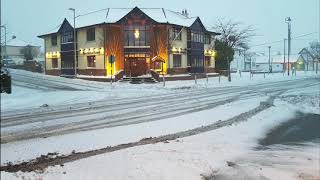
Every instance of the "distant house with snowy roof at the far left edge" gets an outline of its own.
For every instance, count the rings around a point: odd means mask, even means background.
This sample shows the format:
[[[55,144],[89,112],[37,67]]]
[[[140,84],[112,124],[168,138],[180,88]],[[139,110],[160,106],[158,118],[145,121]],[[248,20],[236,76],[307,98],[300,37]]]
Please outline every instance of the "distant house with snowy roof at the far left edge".
[[[6,46],[1,46],[1,56],[3,59],[10,60],[14,64],[21,65],[25,61],[24,50],[27,46],[30,46],[32,51],[36,54],[40,54],[40,46],[32,45],[19,39],[12,39],[6,43]],[[34,60],[39,60],[39,56]]]

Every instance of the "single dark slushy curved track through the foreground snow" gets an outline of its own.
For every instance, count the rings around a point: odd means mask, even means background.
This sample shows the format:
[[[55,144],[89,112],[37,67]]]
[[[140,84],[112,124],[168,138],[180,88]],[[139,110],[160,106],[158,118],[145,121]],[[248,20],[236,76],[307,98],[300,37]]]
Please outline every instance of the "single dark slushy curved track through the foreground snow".
[[[99,154],[104,154],[104,153],[110,153],[118,150],[123,150],[131,147],[137,147],[137,146],[143,146],[147,144],[155,144],[155,143],[160,143],[160,142],[167,142],[170,140],[175,140],[178,138],[184,138],[184,137],[189,137],[189,136],[194,136],[197,134],[205,133],[208,131],[216,130],[225,126],[232,125],[234,123],[239,123],[246,121],[247,119],[253,117],[254,115],[270,108],[273,106],[274,99],[282,92],[277,93],[275,96],[271,96],[267,101],[261,102],[260,105],[254,109],[251,109],[247,112],[241,113],[237,116],[234,116],[228,120],[225,121],[218,121],[212,124],[209,124],[207,126],[202,126],[186,131],[181,131],[177,132],[174,134],[168,134],[168,135],[163,135],[159,137],[150,137],[150,138],[144,138],[141,139],[140,141],[136,142],[131,142],[131,143],[126,143],[126,144],[120,144],[117,146],[109,146],[106,148],[101,148],[97,150],[91,150],[91,151],[86,151],[86,152],[78,152],[78,153],[72,153],[70,155],[59,155],[59,156],[51,156],[49,153],[47,156],[41,156],[38,157],[34,160],[28,161],[28,162],[22,162],[19,164],[8,164],[5,166],[0,167],[0,171],[6,171],[6,172],[31,172],[31,171],[43,171],[49,166],[56,166],[56,165],[61,165],[69,162],[73,162],[76,160],[88,158],[91,156],[96,156]]]

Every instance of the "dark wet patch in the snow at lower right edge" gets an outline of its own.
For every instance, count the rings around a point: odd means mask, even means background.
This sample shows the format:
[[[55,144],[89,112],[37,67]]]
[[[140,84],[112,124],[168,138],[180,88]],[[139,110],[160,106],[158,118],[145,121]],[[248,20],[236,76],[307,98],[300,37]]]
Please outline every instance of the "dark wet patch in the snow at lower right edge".
[[[290,119],[269,131],[259,140],[262,146],[274,144],[302,145],[305,142],[320,143],[320,115],[297,113]]]

